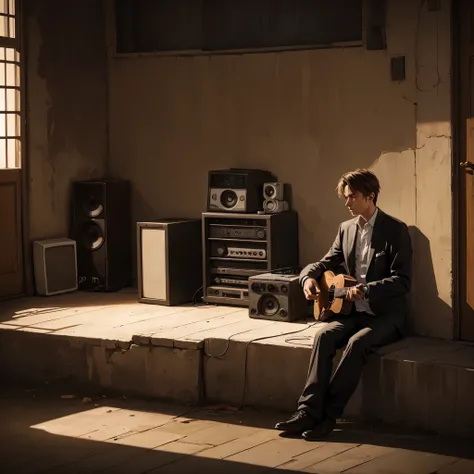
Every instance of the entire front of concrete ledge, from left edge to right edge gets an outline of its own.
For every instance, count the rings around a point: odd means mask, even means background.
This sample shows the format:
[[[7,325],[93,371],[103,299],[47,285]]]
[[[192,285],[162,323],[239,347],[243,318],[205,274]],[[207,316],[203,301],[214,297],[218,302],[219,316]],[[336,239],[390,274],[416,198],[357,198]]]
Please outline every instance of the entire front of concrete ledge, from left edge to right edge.
[[[201,349],[171,343],[123,349],[95,339],[0,330],[0,361],[4,380],[293,411],[309,345],[250,341],[209,338]],[[371,356],[345,415],[471,437],[472,393],[474,347],[407,338]]]

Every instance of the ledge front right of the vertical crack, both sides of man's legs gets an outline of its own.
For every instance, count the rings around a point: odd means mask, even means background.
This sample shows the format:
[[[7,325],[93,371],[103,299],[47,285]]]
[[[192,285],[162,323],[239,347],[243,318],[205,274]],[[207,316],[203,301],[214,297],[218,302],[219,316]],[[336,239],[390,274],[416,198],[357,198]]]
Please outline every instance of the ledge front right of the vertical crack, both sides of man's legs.
[[[226,345],[222,340],[205,344],[204,386],[209,401],[284,411],[296,408],[310,348],[231,342],[225,355],[216,357]],[[370,357],[345,416],[471,437],[472,393],[474,347],[407,338]]]

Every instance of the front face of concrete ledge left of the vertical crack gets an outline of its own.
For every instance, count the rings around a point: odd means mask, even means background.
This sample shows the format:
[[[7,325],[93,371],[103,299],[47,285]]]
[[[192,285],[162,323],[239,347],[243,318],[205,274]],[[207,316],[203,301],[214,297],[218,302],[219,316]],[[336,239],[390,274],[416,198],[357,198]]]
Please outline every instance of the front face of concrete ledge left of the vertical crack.
[[[200,350],[137,346],[110,348],[95,339],[0,331],[4,380],[60,383],[82,390],[201,401]]]

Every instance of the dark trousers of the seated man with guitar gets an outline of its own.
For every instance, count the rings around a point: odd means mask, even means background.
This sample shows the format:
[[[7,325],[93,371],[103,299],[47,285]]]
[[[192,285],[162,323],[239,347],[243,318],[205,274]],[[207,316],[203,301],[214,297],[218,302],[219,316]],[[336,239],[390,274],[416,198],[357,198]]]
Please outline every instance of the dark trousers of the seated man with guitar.
[[[338,418],[357,388],[368,355],[377,347],[395,342],[400,315],[372,316],[353,312],[325,323],[314,338],[306,386],[298,409],[321,420],[325,415]],[[346,346],[331,378],[336,350]]]

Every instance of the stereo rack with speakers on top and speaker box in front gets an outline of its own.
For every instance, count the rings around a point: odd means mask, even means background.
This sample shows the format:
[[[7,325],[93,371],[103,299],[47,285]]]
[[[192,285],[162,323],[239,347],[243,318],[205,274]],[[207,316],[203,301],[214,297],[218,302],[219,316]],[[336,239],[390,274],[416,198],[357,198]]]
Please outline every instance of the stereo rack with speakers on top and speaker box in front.
[[[247,306],[251,318],[306,317],[287,185],[265,170],[210,171],[202,232],[205,302]]]

